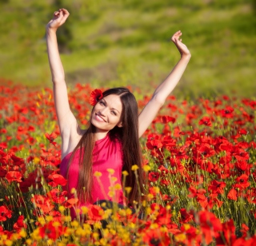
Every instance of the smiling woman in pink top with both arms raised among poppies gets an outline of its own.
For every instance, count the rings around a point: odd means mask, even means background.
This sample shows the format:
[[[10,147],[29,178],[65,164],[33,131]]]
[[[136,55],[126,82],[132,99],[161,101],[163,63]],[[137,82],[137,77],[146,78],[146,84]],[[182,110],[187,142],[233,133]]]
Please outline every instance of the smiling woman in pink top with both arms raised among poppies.
[[[72,188],[76,188],[80,206],[94,204],[98,200],[112,200],[132,206],[141,200],[143,192],[142,158],[138,139],[182,77],[190,61],[190,51],[182,43],[182,39],[179,39],[181,31],[176,32],[171,40],[177,46],[181,59],[166,80],[158,85],[139,115],[137,102],[128,89],[114,88],[104,93],[94,90],[91,95],[94,107],[89,126],[82,130],[70,111],[56,38],[58,27],[68,17],[69,12],[60,9],[54,12],[54,18],[46,26],[54,103],[62,137],[60,169],[62,175],[68,179],[66,189],[70,194]],[[136,175],[131,170],[133,165],[138,165]],[[126,194],[127,200],[122,190],[123,171],[128,174],[125,186],[131,188]]]

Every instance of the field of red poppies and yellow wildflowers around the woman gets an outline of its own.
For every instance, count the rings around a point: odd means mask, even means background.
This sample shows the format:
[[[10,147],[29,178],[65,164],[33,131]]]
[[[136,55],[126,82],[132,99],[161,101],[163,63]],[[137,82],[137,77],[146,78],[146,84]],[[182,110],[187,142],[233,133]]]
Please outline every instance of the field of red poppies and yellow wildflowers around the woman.
[[[92,90],[68,89],[81,125],[90,119]],[[142,110],[150,97],[132,91]],[[78,209],[75,191],[68,198],[52,89],[1,80],[0,99],[1,245],[256,244],[255,98],[168,97],[141,139],[146,192],[135,214]]]

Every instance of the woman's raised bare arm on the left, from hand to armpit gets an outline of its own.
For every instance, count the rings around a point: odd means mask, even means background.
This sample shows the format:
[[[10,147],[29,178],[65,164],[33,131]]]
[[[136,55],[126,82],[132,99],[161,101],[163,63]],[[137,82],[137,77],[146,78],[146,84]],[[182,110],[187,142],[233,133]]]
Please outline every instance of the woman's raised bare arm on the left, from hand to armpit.
[[[69,15],[69,12],[65,9],[55,11],[54,17],[46,26],[47,54],[52,81],[54,84],[54,105],[58,117],[58,126],[62,137],[70,134],[71,126],[76,125],[76,119],[70,110],[65,82],[65,73],[58,53],[58,43],[56,37],[58,27],[62,26],[62,24],[66,22]]]

